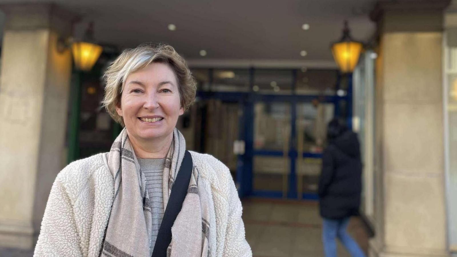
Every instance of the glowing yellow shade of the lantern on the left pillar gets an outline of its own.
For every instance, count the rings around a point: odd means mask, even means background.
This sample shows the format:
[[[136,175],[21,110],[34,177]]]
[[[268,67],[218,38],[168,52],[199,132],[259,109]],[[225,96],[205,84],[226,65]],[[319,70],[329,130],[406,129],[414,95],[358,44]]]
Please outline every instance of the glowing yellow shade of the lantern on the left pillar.
[[[103,48],[93,43],[75,42],[72,50],[76,67],[79,70],[89,71],[100,57]]]

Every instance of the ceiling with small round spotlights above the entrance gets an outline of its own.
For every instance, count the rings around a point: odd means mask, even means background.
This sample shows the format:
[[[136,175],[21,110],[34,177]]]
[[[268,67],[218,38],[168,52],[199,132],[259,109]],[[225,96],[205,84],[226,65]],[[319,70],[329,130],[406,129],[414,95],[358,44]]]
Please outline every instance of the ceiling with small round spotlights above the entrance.
[[[1,3],[23,0],[0,0]],[[48,2],[27,0],[27,2]],[[347,19],[352,35],[368,40],[373,0],[54,0],[82,17],[81,37],[95,21],[95,38],[119,48],[144,42],[169,43],[186,59],[232,62],[332,63],[330,43],[341,37]],[[170,31],[173,23],[177,29]],[[310,29],[302,30],[303,23]],[[206,57],[199,51],[205,49]],[[306,57],[300,51],[306,50]],[[223,60],[222,60],[223,59]]]

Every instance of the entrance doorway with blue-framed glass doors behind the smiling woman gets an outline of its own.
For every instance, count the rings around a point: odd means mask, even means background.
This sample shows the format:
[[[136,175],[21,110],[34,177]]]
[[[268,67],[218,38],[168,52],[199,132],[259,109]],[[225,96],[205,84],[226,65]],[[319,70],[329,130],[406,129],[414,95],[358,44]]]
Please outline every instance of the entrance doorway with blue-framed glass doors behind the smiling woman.
[[[215,71],[230,79],[215,79]],[[200,111],[205,125],[195,130],[195,138],[225,149],[224,157],[213,153],[207,143],[197,150],[229,166],[240,196],[317,199],[326,126],[335,116],[350,117],[350,80],[341,83],[336,70],[199,69],[193,73],[198,74],[197,104],[237,113]],[[208,126],[220,137],[213,140]],[[236,168],[228,160],[236,160]]]

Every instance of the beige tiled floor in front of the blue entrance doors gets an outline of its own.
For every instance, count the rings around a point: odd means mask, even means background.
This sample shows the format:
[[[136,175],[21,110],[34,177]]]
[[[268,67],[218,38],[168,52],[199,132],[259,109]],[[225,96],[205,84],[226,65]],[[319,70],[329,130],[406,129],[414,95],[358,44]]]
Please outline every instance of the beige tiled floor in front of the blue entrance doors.
[[[324,256],[322,219],[316,202],[246,199],[243,221],[255,257]],[[367,234],[361,220],[353,218],[348,230],[366,251]],[[350,257],[340,244],[338,256]]]

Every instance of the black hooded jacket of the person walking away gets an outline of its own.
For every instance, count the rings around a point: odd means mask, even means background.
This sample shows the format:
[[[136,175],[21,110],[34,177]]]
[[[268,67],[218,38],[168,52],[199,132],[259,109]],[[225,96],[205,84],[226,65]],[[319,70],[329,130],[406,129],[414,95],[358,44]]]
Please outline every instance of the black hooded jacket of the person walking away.
[[[319,178],[319,210],[327,219],[358,215],[361,194],[360,144],[347,130],[324,150]]]

